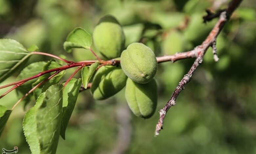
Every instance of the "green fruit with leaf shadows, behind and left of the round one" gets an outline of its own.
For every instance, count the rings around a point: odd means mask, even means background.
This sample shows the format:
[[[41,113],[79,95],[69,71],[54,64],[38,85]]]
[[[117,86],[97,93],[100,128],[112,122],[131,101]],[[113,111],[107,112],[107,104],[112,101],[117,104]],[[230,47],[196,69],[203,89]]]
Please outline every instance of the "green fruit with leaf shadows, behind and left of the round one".
[[[127,76],[121,67],[100,67],[93,79],[91,92],[94,99],[104,100],[120,91],[126,83]]]

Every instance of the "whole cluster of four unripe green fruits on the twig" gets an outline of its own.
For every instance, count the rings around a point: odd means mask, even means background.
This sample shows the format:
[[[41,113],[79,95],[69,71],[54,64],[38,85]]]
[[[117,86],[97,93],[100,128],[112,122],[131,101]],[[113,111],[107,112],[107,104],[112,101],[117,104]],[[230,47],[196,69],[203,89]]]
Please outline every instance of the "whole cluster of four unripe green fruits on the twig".
[[[124,49],[123,29],[113,16],[103,17],[93,32],[95,48],[106,58],[121,56],[121,66],[100,67],[93,79],[91,92],[96,100],[104,100],[125,88],[125,98],[132,112],[150,118],[157,106],[157,59],[154,52],[141,43]],[[128,78],[127,78],[128,76]]]

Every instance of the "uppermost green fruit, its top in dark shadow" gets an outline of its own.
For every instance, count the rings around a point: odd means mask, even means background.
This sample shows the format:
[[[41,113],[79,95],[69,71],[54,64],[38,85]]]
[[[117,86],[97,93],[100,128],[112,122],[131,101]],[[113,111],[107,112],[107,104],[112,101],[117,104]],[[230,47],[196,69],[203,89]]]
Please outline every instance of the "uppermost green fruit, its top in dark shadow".
[[[107,59],[120,57],[125,36],[121,25],[110,15],[99,21],[93,32],[95,48]]]

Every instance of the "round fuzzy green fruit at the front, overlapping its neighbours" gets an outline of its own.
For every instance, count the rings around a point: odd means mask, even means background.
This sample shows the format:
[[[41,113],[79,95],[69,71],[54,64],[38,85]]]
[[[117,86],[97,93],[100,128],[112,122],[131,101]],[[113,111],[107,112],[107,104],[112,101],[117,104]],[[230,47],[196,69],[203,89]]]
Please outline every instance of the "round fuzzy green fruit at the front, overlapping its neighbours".
[[[130,79],[145,84],[157,73],[157,59],[144,44],[132,43],[121,54],[121,67]]]

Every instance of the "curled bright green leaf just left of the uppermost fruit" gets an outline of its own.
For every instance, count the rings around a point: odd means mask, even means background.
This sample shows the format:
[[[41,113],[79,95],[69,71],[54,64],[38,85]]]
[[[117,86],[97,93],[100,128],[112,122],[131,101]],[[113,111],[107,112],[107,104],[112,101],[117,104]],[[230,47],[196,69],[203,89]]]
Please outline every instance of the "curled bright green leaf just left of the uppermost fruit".
[[[89,49],[92,44],[92,36],[86,30],[77,27],[69,33],[63,46],[66,51],[71,52],[72,48]]]

